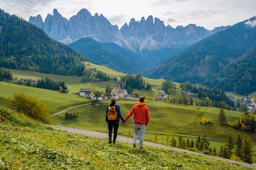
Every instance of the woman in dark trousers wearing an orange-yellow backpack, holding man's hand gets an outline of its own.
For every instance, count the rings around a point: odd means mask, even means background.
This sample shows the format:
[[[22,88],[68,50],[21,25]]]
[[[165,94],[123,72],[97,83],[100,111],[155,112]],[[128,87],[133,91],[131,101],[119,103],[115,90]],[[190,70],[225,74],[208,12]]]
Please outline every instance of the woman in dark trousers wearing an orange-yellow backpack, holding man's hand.
[[[119,127],[119,119],[121,118],[124,124],[124,118],[121,115],[120,106],[116,104],[116,97],[111,97],[111,103],[108,104],[106,110],[106,123],[108,124],[108,138],[109,142],[112,143],[112,131],[114,127],[114,138],[113,143],[116,143],[116,136]]]

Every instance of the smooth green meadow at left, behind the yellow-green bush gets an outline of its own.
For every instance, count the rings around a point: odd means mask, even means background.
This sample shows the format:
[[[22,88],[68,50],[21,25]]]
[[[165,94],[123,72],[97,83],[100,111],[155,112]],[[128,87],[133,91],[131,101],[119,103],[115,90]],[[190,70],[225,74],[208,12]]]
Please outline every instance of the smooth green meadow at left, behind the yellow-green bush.
[[[8,97],[12,97],[13,94],[19,92],[22,92],[27,96],[44,99],[47,102],[46,106],[49,108],[51,114],[71,106],[90,102],[88,99],[74,94],[61,94],[56,90],[38,89],[35,87],[15,85],[0,81],[0,106],[4,106]]]

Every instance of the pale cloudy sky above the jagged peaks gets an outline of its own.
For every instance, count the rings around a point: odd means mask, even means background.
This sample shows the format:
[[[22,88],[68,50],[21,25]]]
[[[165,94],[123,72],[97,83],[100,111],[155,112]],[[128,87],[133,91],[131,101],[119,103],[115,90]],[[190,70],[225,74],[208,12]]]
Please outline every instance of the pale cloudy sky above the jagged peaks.
[[[67,19],[86,8],[92,15],[102,13],[113,25],[122,25],[149,15],[177,27],[196,24],[213,29],[234,25],[256,16],[256,0],[0,0],[0,8],[29,20],[46,15],[56,8]]]

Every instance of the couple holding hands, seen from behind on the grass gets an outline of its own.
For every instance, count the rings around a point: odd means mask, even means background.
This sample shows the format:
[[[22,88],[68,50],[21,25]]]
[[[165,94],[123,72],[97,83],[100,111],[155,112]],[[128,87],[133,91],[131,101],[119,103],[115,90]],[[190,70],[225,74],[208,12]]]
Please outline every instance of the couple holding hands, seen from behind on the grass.
[[[149,111],[148,107],[144,103],[144,97],[140,97],[140,103],[135,104],[130,113],[123,118],[120,111],[120,106],[116,104],[116,97],[111,97],[111,103],[108,105],[106,110],[106,123],[108,124],[108,136],[109,136],[109,142],[112,143],[112,131],[114,128],[114,138],[113,143],[116,142],[116,136],[119,126],[119,119],[122,120],[123,124],[127,122],[127,120],[134,115],[133,117],[133,147],[136,147],[136,141],[138,138],[138,134],[140,132],[140,149],[142,149],[143,146],[143,138],[146,131],[146,127],[148,125],[149,121]]]

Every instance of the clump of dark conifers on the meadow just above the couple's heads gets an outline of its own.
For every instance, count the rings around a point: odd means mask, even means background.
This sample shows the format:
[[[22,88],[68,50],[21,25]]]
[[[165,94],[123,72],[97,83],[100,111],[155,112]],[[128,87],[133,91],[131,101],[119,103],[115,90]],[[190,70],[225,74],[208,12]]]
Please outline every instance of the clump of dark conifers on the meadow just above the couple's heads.
[[[152,89],[152,86],[143,80],[142,74],[140,72],[138,72],[137,74],[127,73],[125,76],[122,76],[120,80],[120,86],[122,89],[126,89],[129,93],[131,93],[133,89]]]

